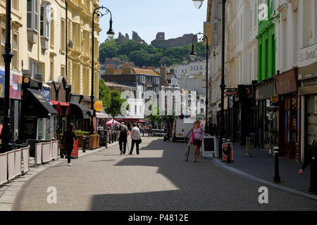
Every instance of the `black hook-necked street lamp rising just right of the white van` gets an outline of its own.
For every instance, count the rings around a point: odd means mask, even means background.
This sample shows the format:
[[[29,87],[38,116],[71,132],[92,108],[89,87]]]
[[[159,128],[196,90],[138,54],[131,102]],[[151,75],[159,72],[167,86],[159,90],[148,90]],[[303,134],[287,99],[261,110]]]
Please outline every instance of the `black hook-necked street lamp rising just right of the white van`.
[[[202,1],[201,1],[202,3]],[[208,45],[208,37],[206,34],[203,34],[201,32],[197,33],[194,35],[194,37],[192,38],[192,52],[189,54],[189,57],[194,60],[194,58],[196,58],[196,53],[194,51],[194,39],[195,37],[197,37],[197,35],[202,34],[203,37],[201,38],[201,40],[206,40],[206,124],[205,124],[205,133],[209,134],[209,123],[208,123],[208,53],[209,53],[209,45]],[[197,109],[198,111],[198,109]],[[197,113],[198,115],[198,113]]]

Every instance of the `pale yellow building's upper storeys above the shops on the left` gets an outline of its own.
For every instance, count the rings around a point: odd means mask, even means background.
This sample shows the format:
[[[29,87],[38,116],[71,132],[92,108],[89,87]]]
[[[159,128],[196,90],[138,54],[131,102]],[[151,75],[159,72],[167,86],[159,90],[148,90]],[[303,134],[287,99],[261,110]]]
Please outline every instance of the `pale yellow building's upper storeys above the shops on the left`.
[[[66,1],[68,20],[66,35]],[[73,94],[90,96],[92,67],[92,12],[99,0],[12,0],[12,70],[30,70],[44,83],[67,78]],[[0,0],[1,53],[4,52],[6,1]],[[99,96],[99,19],[94,29],[94,96]],[[68,68],[66,77],[66,38]],[[73,43],[73,46],[70,44]],[[0,65],[4,66],[1,57]]]

